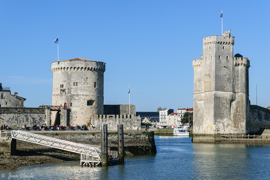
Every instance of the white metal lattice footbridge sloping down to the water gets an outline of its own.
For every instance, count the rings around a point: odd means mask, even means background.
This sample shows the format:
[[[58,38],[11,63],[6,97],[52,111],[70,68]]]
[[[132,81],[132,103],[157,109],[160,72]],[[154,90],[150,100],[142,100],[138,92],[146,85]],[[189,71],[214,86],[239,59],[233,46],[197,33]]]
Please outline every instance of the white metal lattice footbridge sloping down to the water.
[[[101,146],[73,143],[70,141],[42,136],[39,134],[15,130],[11,131],[11,138],[43,146],[49,146],[52,148],[62,149],[69,152],[79,153],[81,154],[81,166],[98,166],[102,163]],[[110,148],[108,148],[108,154],[111,155],[113,159],[118,158],[118,152],[110,151]]]

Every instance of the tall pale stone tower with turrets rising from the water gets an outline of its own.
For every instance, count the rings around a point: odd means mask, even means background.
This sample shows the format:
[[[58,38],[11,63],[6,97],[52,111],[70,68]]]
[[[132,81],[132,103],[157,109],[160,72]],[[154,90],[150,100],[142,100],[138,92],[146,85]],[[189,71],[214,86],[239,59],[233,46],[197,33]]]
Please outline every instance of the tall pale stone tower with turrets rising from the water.
[[[205,37],[202,43],[203,54],[192,60],[194,135],[247,134],[250,61],[233,56],[230,30],[220,37]]]

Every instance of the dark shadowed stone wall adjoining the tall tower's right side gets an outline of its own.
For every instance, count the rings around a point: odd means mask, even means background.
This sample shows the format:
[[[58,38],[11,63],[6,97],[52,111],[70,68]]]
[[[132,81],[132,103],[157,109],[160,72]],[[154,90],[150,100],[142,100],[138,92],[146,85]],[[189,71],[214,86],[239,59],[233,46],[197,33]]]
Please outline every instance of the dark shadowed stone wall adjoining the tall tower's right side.
[[[270,110],[250,105],[250,117],[247,123],[250,133],[255,133],[261,128],[264,129],[265,126],[270,126]]]

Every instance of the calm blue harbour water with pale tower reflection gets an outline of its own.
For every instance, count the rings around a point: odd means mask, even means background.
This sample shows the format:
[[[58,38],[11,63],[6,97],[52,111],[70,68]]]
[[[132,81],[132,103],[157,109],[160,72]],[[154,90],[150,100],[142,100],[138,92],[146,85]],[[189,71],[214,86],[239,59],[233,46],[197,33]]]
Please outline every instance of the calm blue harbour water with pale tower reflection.
[[[80,167],[79,161],[0,170],[0,179],[270,179],[270,145],[191,143],[187,137],[156,136],[156,155],[125,157],[125,164]],[[2,178],[1,175],[5,177]]]

